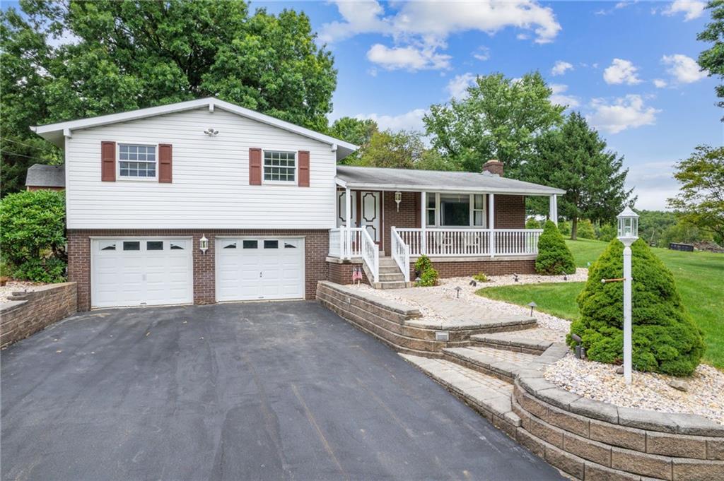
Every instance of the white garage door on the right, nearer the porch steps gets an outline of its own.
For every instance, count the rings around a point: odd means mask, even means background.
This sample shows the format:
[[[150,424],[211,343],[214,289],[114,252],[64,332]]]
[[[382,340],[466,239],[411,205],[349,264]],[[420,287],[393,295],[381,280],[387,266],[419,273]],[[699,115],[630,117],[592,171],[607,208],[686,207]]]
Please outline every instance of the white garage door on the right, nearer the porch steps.
[[[216,239],[216,300],[304,297],[304,239]]]

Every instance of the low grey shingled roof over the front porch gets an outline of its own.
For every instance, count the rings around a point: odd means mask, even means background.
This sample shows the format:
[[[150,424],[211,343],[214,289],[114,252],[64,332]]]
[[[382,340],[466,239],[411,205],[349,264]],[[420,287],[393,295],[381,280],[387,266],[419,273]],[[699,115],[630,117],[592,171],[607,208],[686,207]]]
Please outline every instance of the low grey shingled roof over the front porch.
[[[342,187],[370,190],[431,190],[434,192],[492,192],[518,195],[563,195],[565,190],[506,179],[489,172],[424,171],[380,167],[337,166]]]

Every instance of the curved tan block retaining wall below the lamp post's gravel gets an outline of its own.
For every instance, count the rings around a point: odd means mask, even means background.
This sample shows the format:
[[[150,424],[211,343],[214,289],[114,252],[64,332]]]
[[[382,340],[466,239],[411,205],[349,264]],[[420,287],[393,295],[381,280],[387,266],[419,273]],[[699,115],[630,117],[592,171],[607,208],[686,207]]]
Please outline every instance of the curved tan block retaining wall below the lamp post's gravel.
[[[518,442],[579,480],[724,480],[724,426],[701,416],[593,401],[535,369],[515,379],[513,412]]]

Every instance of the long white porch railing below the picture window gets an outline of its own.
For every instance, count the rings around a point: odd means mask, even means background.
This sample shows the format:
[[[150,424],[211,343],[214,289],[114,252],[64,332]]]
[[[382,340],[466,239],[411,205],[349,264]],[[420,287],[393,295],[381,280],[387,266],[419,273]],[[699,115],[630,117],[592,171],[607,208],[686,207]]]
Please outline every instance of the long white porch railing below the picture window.
[[[395,229],[410,255],[495,256],[535,255],[541,229]],[[492,241],[492,242],[491,242]]]

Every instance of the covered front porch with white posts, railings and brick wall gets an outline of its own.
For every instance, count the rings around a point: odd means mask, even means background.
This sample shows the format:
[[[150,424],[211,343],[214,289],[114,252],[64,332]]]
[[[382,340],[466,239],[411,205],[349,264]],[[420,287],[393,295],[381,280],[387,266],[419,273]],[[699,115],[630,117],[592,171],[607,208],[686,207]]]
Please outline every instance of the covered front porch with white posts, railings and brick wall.
[[[383,182],[358,179],[370,171]],[[408,182],[400,182],[400,176]],[[437,184],[432,184],[435,178]],[[548,197],[549,215],[556,221],[561,193],[489,173],[340,166],[329,257],[363,263],[372,282],[379,279],[380,257],[386,256],[395,260],[407,282],[411,263],[420,255],[445,265],[534,260],[542,230],[525,229],[525,197]],[[500,263],[495,265],[500,271]],[[460,264],[450,268],[451,273],[462,270]]]

